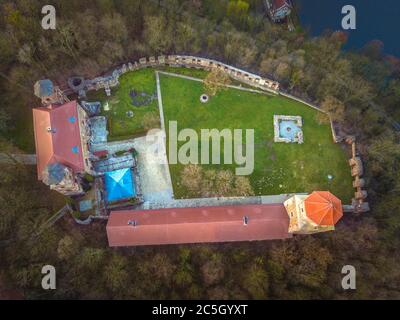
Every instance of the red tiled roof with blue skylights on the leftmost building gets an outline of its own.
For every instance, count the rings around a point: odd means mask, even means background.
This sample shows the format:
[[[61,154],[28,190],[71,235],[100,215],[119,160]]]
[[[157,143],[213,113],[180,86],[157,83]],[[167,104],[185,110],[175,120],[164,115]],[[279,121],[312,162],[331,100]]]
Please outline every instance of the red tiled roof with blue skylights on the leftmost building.
[[[33,109],[39,180],[46,166],[54,162],[74,171],[84,170],[77,108],[77,102],[71,101]]]

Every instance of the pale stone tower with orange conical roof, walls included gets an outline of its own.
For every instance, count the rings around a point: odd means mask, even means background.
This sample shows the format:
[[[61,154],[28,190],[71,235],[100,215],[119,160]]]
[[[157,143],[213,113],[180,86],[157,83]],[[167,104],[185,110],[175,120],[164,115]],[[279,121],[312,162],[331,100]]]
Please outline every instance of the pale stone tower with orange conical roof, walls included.
[[[295,195],[284,202],[289,232],[310,234],[331,231],[343,216],[342,202],[329,191]]]

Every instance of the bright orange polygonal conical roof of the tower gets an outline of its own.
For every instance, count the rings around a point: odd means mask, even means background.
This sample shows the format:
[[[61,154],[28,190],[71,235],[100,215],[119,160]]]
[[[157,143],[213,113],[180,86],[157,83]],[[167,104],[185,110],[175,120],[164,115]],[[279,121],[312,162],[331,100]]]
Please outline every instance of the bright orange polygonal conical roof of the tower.
[[[304,207],[307,217],[322,226],[333,226],[343,216],[342,202],[329,191],[314,191]]]

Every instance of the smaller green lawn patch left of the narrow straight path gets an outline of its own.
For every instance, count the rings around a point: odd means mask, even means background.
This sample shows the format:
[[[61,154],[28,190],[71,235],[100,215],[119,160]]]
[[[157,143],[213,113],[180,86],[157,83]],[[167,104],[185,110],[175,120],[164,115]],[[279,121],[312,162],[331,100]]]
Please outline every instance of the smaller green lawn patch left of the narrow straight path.
[[[147,106],[136,107],[131,103],[129,93],[131,90],[146,92],[147,94],[156,93],[156,81],[154,69],[142,69],[135,72],[128,72],[119,78],[119,86],[111,88],[111,96],[107,97],[104,90],[88,92],[89,101],[101,101],[104,106],[108,103],[109,111],[104,111],[102,115],[108,119],[109,139],[122,140],[135,136],[144,135],[146,130],[143,126],[143,117],[146,113],[153,112],[159,114],[157,99]],[[129,118],[127,111],[133,111],[134,116]]]

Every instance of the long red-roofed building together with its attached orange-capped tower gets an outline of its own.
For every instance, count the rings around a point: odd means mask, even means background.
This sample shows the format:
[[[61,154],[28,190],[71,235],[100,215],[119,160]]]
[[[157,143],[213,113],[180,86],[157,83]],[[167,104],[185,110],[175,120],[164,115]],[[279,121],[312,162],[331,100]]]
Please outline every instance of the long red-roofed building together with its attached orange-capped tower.
[[[334,230],[341,201],[328,191],[284,203],[112,211],[110,247],[287,239]]]

